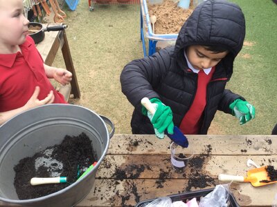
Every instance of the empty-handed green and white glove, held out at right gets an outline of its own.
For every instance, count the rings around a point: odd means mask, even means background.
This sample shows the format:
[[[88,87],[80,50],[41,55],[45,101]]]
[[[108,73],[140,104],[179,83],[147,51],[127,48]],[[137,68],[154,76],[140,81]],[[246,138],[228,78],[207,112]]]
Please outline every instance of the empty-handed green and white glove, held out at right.
[[[232,115],[240,119],[240,125],[255,118],[255,108],[247,101],[235,99],[229,108],[232,110]]]

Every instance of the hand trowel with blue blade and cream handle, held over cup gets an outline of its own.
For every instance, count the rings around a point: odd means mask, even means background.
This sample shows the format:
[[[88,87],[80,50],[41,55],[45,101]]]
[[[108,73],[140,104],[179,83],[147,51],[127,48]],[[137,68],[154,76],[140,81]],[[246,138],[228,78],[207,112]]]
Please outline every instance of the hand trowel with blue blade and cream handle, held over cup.
[[[143,99],[141,99],[141,104],[152,114],[154,115],[154,113],[156,112],[156,109],[154,108],[154,106],[152,105],[151,101],[147,98],[144,97]],[[183,134],[183,132],[181,132],[181,130],[179,130],[179,128],[177,126],[174,126],[173,128],[173,134],[170,135],[168,134],[167,131],[165,131],[165,134],[168,135],[168,137],[175,142],[176,144],[178,144],[179,146],[182,146],[184,148],[188,147],[188,139],[186,138],[186,136]]]

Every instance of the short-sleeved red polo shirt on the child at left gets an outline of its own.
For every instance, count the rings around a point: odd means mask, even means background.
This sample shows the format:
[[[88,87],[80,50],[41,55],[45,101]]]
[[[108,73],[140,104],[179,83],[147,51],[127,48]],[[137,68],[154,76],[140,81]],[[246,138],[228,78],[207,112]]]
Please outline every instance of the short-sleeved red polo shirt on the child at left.
[[[44,61],[29,36],[20,46],[21,52],[0,54],[0,112],[24,106],[39,86],[38,99],[45,99],[53,90],[54,103],[66,103],[53,88],[44,70]]]

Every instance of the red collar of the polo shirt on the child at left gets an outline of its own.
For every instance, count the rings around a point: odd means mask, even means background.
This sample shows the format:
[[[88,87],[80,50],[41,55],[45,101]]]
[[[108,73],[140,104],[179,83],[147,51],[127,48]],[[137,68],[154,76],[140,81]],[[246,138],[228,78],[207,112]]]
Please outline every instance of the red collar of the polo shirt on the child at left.
[[[21,52],[24,53],[31,44],[31,41],[29,41],[28,38],[26,38],[26,41],[19,46]],[[12,54],[0,54],[0,65],[5,66],[7,68],[12,68],[13,64],[15,63],[15,59],[17,58],[17,55],[21,55],[21,52],[16,52]]]

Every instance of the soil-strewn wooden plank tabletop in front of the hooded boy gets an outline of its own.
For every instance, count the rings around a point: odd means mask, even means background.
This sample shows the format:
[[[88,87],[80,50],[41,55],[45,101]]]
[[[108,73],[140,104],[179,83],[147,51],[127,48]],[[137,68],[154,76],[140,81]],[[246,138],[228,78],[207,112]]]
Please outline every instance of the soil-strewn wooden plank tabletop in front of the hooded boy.
[[[135,206],[145,199],[182,193],[196,172],[211,177],[214,184],[222,184],[217,180],[220,173],[246,175],[253,168],[247,167],[247,159],[277,168],[277,136],[190,135],[188,139],[190,147],[195,148],[194,158],[201,158],[203,166],[193,169],[188,166],[185,173],[179,174],[170,163],[170,139],[114,135],[98,168],[95,190],[78,206]],[[125,179],[119,179],[119,172]],[[255,188],[250,183],[233,182],[231,192],[240,206],[271,206],[277,184]]]

